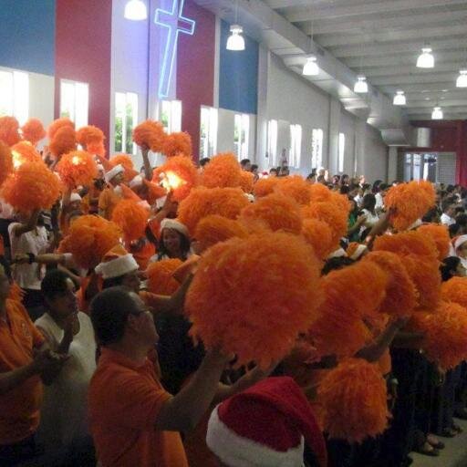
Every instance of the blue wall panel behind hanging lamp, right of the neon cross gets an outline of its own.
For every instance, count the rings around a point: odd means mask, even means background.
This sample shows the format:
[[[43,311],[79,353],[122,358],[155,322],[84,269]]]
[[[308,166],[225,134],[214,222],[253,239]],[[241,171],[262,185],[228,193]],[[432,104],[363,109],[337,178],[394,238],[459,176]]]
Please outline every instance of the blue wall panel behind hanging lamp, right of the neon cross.
[[[244,51],[227,50],[230,25],[222,21],[219,64],[219,107],[244,113],[256,113],[258,103],[259,46],[248,36]]]

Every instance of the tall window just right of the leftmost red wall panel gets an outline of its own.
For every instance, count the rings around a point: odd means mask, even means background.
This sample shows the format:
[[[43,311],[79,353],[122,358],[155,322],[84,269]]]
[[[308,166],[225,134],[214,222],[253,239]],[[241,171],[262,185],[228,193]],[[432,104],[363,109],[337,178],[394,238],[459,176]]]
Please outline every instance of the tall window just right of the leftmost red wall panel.
[[[138,125],[138,94],[115,93],[115,151],[136,154],[133,129]]]

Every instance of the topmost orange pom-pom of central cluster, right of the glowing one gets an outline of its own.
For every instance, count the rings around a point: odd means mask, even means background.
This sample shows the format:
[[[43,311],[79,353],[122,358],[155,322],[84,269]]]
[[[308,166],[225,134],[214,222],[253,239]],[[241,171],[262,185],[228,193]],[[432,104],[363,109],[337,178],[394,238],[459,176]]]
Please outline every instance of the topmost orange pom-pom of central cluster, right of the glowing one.
[[[232,152],[219,154],[204,167],[201,183],[207,188],[240,186],[242,168]]]

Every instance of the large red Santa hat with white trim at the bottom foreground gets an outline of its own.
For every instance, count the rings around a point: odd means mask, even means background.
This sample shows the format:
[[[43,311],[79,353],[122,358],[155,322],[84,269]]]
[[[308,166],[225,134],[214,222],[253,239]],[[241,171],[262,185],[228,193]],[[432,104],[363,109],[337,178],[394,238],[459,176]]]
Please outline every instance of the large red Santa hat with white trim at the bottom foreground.
[[[211,414],[206,442],[229,467],[298,467],[305,442],[319,465],[327,465],[315,415],[288,377],[265,379],[223,401]]]

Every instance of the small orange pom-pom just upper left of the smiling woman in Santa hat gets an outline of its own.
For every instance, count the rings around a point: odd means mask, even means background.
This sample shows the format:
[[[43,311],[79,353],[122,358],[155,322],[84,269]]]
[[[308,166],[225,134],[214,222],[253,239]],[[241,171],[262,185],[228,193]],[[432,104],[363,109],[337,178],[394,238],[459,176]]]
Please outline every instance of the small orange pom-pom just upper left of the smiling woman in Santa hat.
[[[126,242],[138,240],[144,235],[149,212],[133,200],[120,201],[112,213],[112,221],[119,225]]]

